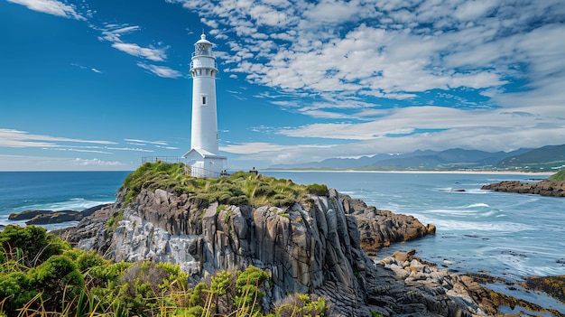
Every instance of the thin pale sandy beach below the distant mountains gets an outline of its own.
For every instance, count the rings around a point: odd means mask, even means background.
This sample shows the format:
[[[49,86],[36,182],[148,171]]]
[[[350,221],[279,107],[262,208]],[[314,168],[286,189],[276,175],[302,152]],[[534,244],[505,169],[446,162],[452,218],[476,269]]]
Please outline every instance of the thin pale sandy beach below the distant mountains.
[[[375,172],[375,173],[408,173],[408,174],[492,174],[492,175],[546,175],[556,172],[519,172],[519,171],[361,171],[361,170],[263,170],[264,172]],[[261,172],[261,170],[259,171]]]

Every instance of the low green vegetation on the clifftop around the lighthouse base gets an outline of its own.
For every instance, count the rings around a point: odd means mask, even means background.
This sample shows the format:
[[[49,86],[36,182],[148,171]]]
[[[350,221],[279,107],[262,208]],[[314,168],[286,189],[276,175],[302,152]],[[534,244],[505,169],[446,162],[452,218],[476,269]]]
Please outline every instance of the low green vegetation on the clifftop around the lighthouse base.
[[[184,163],[144,163],[125,178],[125,204],[144,189],[187,194],[200,207],[206,207],[214,201],[238,206],[292,207],[296,200],[307,194],[328,194],[326,185],[301,185],[291,180],[250,172],[236,172],[219,178],[197,178],[190,176],[188,169]]]

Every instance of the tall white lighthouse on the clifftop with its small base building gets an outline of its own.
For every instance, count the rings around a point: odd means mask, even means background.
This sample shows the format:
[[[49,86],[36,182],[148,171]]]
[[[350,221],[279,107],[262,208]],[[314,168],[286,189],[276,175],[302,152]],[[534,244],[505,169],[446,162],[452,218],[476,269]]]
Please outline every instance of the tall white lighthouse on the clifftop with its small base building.
[[[194,44],[190,74],[192,75],[192,127],[190,151],[182,155],[196,177],[218,177],[227,158],[218,150],[218,115],[216,107],[216,74],[218,65],[212,54],[212,43],[206,35]]]

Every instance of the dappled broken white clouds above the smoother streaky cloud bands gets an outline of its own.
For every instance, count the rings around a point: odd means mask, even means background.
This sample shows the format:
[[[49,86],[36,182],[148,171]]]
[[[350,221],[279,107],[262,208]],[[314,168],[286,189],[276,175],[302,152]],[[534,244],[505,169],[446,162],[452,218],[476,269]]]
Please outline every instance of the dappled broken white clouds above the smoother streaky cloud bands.
[[[563,13],[556,0],[168,2],[199,12],[221,33],[236,33],[228,42],[233,52],[228,62],[237,64],[230,71],[247,74],[251,82],[397,99],[431,89],[504,86],[514,64],[540,65],[551,56],[537,50],[542,46],[520,41],[537,33],[533,21],[551,23]],[[289,42],[271,41],[283,38]]]

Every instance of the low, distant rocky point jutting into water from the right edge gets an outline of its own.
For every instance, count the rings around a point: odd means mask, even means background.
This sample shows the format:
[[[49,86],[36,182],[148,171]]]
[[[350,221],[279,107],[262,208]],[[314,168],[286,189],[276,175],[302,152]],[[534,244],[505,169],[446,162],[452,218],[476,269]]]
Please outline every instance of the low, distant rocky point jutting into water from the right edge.
[[[504,181],[484,185],[481,187],[481,190],[565,197],[565,182],[542,181],[526,183],[520,181]]]

